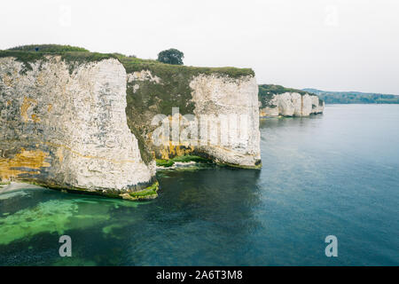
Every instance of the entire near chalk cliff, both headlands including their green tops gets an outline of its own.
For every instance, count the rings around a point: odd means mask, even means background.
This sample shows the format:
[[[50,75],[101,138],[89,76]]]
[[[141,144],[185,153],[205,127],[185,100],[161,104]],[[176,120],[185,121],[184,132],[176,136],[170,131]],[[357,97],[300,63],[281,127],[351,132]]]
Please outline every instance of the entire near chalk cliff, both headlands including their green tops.
[[[0,183],[141,199],[156,196],[155,158],[196,154],[260,168],[257,92],[250,69],[176,67],[90,52],[1,51]],[[187,131],[190,114],[193,122],[206,117],[207,124],[177,139],[170,127],[172,139],[164,136],[168,143],[154,145],[157,114],[176,120],[178,132]]]

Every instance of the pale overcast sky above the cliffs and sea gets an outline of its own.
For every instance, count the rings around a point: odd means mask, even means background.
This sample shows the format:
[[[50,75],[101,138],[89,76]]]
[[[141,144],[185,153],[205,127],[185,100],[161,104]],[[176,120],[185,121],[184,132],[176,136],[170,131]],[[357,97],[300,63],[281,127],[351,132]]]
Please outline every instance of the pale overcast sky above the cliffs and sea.
[[[0,49],[62,43],[252,67],[258,83],[399,94],[397,0],[2,1]]]

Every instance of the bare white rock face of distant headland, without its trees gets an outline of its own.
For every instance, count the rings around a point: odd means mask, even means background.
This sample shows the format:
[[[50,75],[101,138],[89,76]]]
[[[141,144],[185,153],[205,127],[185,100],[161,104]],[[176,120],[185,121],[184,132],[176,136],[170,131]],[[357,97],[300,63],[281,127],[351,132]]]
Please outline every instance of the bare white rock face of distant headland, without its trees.
[[[285,92],[274,95],[269,106],[261,108],[261,116],[309,116],[324,111],[324,102],[319,105],[319,99],[314,95],[301,95],[297,92]]]

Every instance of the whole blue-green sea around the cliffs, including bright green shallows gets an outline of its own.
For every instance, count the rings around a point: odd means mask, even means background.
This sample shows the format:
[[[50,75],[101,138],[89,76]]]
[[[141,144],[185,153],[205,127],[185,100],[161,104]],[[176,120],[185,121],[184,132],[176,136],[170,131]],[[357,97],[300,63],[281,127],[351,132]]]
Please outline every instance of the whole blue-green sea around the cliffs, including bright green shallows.
[[[398,265],[398,122],[397,105],[262,120],[262,170],[158,173],[154,201],[0,194],[0,265]]]

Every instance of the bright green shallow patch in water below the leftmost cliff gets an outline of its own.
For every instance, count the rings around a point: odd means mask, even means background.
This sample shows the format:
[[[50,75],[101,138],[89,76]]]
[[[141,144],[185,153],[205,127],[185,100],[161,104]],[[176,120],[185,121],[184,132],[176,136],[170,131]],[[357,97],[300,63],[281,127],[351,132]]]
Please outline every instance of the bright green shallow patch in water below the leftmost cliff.
[[[30,200],[33,189],[18,190],[11,193],[0,194],[0,201],[18,198]],[[45,193],[47,189],[41,188]],[[40,193],[40,194],[43,194]],[[62,235],[71,230],[84,230],[98,225],[113,225],[112,212],[114,209],[137,209],[145,202],[123,201],[101,197],[84,197],[72,194],[55,194],[56,199],[39,201],[34,206],[18,209],[15,212],[0,214],[0,246],[12,241],[29,240],[40,233]],[[2,197],[4,199],[2,200]],[[123,224],[135,222],[134,218],[126,217]],[[108,231],[106,230],[107,233]]]

